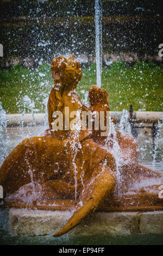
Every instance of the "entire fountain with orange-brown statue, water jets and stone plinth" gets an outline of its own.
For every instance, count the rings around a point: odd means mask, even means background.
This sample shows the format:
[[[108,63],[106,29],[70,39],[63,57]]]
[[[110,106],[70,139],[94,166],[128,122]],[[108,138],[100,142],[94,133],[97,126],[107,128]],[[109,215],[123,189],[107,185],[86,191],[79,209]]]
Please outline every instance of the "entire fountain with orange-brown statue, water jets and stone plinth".
[[[154,227],[156,232],[162,232],[160,210],[163,210],[163,203],[158,196],[161,193],[161,173],[139,164],[138,145],[131,137],[125,109],[119,130],[115,119],[106,123],[105,114],[110,112],[110,108],[108,93],[101,89],[100,0],[95,0],[95,28],[97,87],[92,86],[89,92],[83,90],[82,102],[76,94],[82,76],[79,58],[73,54],[54,58],[51,67],[54,87],[49,97],[43,95],[45,98],[42,101],[46,113],[43,127],[49,126],[49,129],[38,136],[39,127],[36,126],[37,137],[26,138],[23,133],[26,111],[32,113],[32,126],[36,122],[34,101],[28,95],[24,96],[21,123],[23,141],[9,155],[4,145],[8,141],[4,143],[2,132],[3,129],[6,133],[7,118],[0,102],[0,146],[2,154],[5,153],[2,155],[2,166],[0,163],[0,185],[4,190],[1,202],[4,208],[10,209],[9,221],[14,234],[54,234],[56,237],[68,232],[68,239],[69,235],[92,233],[134,235],[147,233],[150,229],[148,225],[154,219],[159,224],[151,224],[151,230]],[[68,116],[67,108],[70,112]],[[80,117],[84,112],[87,113],[87,121],[83,130]],[[108,136],[101,135],[104,132],[101,126],[102,112],[104,124],[110,126]],[[93,114],[89,119],[90,113]],[[99,124],[96,124],[97,117]],[[90,123],[92,130],[89,129]],[[154,161],[162,122],[159,121],[158,127]],[[148,211],[147,214],[145,211]],[[82,224],[88,215],[89,221]]]

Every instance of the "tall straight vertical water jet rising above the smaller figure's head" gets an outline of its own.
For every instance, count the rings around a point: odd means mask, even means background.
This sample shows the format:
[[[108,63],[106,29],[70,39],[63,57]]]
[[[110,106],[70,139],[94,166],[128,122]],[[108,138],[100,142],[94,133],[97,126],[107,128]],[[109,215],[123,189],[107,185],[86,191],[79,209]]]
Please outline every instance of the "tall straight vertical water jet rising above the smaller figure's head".
[[[101,1],[100,0],[95,0],[95,29],[96,29],[97,86],[101,87],[101,75],[102,75],[102,7],[101,7]]]

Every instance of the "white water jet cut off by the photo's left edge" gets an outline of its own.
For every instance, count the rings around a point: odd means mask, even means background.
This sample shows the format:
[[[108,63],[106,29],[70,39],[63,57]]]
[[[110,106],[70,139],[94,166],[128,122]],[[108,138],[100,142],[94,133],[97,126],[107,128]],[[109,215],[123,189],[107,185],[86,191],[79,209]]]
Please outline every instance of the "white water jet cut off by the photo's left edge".
[[[2,108],[2,103],[0,101],[0,166],[3,163],[5,157],[7,157],[9,154],[8,144],[10,142],[10,137],[7,133],[7,121],[7,115],[5,110]]]

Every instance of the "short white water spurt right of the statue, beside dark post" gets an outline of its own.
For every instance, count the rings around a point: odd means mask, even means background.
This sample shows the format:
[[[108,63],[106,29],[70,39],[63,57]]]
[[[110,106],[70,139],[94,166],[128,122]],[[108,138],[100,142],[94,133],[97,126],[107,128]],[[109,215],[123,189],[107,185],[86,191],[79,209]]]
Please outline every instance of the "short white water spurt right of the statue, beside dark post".
[[[131,126],[128,120],[129,113],[126,109],[123,109],[123,114],[120,120],[120,132],[122,135],[131,135]]]

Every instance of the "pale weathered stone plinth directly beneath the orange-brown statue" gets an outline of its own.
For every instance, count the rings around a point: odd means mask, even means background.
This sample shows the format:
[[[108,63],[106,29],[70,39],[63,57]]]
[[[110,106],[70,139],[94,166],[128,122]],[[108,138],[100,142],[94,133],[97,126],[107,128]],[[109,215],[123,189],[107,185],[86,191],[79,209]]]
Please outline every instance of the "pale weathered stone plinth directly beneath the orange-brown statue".
[[[15,235],[51,235],[71,217],[70,211],[9,210],[9,229]],[[163,234],[163,211],[95,212],[68,234],[73,236]]]

